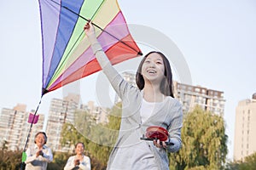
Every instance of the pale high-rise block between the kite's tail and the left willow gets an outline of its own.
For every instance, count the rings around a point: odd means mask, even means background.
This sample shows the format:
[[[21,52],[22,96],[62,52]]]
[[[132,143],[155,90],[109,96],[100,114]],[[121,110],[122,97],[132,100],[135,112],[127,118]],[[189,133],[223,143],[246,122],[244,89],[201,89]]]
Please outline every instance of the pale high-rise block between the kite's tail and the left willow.
[[[93,101],[89,101],[87,105],[79,105],[79,99],[79,94],[68,94],[64,99],[51,100],[46,133],[49,138],[47,145],[52,150],[61,152],[71,150],[71,148],[61,145],[61,130],[66,122],[74,125],[75,114],[79,111],[87,111],[96,123],[108,122],[105,108],[94,105]]]

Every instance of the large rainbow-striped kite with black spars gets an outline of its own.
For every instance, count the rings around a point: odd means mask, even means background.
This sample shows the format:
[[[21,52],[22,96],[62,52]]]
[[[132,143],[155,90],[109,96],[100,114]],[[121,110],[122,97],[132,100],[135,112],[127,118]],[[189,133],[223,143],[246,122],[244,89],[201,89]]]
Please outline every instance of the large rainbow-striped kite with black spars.
[[[84,34],[92,20],[112,64],[142,55],[116,0],[38,0],[43,44],[42,96],[101,67]]]

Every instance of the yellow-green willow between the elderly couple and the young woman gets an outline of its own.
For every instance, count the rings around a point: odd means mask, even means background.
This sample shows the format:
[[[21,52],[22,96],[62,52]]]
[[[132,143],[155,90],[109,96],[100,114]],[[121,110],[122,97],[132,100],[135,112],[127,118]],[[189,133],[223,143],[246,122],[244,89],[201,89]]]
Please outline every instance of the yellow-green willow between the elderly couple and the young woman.
[[[61,132],[61,144],[67,147],[77,142],[84,142],[87,155],[91,158],[91,167],[102,169],[107,166],[108,156],[113,148],[118,133],[121,115],[121,104],[113,106],[109,111],[108,124],[97,123],[94,116],[86,111],[75,115],[75,123],[66,123]]]

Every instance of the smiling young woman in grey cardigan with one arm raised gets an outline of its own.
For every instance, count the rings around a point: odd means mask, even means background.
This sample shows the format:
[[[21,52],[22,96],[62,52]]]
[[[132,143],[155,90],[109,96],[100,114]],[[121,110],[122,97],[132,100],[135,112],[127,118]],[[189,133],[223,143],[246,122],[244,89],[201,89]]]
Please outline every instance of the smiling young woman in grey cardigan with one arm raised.
[[[176,152],[181,148],[183,112],[182,105],[173,98],[172,70],[168,59],[160,52],[145,55],[138,66],[137,87],[134,87],[113,68],[96,39],[91,22],[84,26],[84,32],[102,71],[122,99],[119,138],[109,156],[107,169],[169,169],[166,152]],[[153,142],[142,140],[148,128],[158,128],[148,136],[160,138],[153,138]]]

